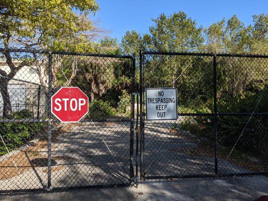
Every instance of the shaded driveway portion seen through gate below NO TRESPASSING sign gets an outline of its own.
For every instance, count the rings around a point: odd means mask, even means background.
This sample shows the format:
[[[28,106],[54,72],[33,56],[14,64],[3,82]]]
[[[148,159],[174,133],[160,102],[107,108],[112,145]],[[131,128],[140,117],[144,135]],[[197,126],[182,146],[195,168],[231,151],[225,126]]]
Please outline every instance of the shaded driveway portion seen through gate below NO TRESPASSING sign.
[[[190,149],[196,149],[198,139],[188,132],[180,136],[172,133],[173,122],[157,121],[145,123],[145,172],[147,176],[165,175],[213,175],[215,158],[188,155]],[[212,145],[213,146],[213,145]],[[202,150],[199,150],[202,152]],[[211,150],[214,153],[214,150]],[[214,155],[214,154],[213,154]],[[247,172],[229,161],[219,159],[219,174]]]

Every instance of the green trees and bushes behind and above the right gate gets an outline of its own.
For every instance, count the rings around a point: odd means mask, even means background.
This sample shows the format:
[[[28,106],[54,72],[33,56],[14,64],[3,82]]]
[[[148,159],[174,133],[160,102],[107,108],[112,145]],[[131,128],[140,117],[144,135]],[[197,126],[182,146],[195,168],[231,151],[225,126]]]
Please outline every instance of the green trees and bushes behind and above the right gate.
[[[162,52],[205,51],[221,53],[268,53],[268,15],[253,16],[253,25],[245,26],[237,16],[223,19],[203,30],[179,12],[153,19],[149,34],[126,32],[124,52],[139,50]],[[203,38],[204,36],[204,38]],[[217,57],[218,111],[267,113],[266,60],[262,58]],[[213,113],[213,60],[192,56],[144,56],[145,87],[176,87],[179,113]],[[138,72],[138,71],[137,71]],[[233,146],[249,116],[224,116],[218,119],[219,143]],[[173,125],[172,128],[176,128]],[[214,117],[184,119],[180,129],[198,137],[214,140]],[[267,147],[267,118],[252,117],[236,147],[239,151],[263,153]],[[259,145],[258,147],[252,146]]]

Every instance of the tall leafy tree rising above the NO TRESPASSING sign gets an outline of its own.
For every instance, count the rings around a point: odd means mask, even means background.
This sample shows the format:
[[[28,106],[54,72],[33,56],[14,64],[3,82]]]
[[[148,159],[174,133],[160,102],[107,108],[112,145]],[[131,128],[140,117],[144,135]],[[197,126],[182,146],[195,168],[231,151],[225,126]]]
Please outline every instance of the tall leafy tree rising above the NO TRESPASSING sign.
[[[159,52],[193,52],[198,51],[204,38],[202,27],[197,27],[196,21],[188,18],[184,12],[170,16],[160,14],[152,20],[154,25],[149,27],[149,34],[138,34],[135,31],[127,32],[122,39],[125,52],[153,50]],[[187,74],[192,62],[189,57],[158,56],[145,59],[144,72],[150,86],[180,85],[180,78]]]

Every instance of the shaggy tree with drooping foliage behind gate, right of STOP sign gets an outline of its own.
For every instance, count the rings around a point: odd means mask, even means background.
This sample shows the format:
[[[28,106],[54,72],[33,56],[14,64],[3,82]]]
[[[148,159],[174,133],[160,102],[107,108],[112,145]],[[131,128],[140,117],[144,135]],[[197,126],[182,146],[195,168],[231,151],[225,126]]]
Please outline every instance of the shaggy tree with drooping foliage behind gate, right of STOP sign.
[[[104,37],[96,44],[96,51],[103,54],[122,54],[117,40]],[[95,99],[116,101],[122,89],[129,88],[131,76],[131,63],[129,59],[111,57],[81,57],[78,62],[79,75],[73,79],[74,85],[79,85]],[[111,98],[112,97],[112,98]],[[111,103],[116,106],[117,103]]]

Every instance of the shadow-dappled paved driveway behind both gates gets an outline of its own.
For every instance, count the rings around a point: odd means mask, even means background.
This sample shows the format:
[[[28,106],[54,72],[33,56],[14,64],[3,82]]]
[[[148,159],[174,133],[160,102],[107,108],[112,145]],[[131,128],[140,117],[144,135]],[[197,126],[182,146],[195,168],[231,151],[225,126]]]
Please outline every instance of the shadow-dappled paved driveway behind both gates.
[[[52,187],[129,182],[129,122],[69,126],[52,136]],[[214,158],[185,154],[182,150],[195,148],[195,141],[177,136],[171,128],[168,121],[145,125],[146,176],[213,174]],[[11,158],[5,159],[0,164],[0,190],[46,188],[47,141],[13,155],[20,173]],[[226,164],[219,172],[242,170],[228,161]],[[152,184],[148,185],[150,188]]]

